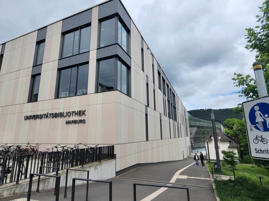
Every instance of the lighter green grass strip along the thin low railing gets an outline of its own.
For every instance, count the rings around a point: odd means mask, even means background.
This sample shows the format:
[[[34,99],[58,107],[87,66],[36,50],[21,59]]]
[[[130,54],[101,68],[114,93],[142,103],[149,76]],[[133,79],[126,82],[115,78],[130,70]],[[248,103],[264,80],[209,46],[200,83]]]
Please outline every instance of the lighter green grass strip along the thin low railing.
[[[207,167],[211,172],[211,168],[213,167],[213,163],[207,163]],[[235,168],[242,168],[244,170],[247,170],[248,172],[251,172],[252,174],[259,176],[259,174],[261,174],[261,176],[267,176],[269,177],[269,172],[267,169],[265,169],[264,167],[257,167],[255,165],[253,166],[249,166],[249,165],[244,165],[244,164],[240,164],[240,165],[236,165]],[[237,177],[245,177],[248,180],[253,181],[254,183],[260,184],[260,180],[259,177],[256,177],[244,170],[235,170],[235,178]],[[214,169],[213,169],[214,171]],[[228,175],[228,176],[233,176],[233,170],[232,169],[222,169],[222,172],[213,172],[214,174],[221,174],[221,175]],[[264,186],[269,187],[269,178],[261,178],[261,182]]]

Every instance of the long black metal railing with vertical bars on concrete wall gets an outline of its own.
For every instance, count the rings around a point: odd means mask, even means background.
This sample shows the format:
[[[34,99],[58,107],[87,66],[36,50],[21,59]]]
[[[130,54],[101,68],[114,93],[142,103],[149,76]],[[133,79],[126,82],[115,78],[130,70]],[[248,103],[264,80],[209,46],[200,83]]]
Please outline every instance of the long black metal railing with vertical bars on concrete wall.
[[[31,173],[47,174],[58,170],[83,166],[89,163],[114,158],[114,146],[45,152],[0,158],[0,185],[27,179]],[[54,167],[43,168],[40,166]]]

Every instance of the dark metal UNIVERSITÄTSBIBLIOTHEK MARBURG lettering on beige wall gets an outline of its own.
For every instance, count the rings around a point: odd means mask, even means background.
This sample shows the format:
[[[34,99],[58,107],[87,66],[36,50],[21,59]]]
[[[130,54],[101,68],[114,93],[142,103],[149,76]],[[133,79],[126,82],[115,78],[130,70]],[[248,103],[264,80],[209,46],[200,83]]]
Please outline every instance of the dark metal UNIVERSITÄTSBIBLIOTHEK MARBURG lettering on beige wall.
[[[62,117],[82,117],[86,116],[86,110],[67,111],[67,112],[55,112],[45,114],[33,114],[24,116],[24,120],[37,120],[37,119],[53,119]],[[66,124],[85,124],[85,119],[66,120]]]

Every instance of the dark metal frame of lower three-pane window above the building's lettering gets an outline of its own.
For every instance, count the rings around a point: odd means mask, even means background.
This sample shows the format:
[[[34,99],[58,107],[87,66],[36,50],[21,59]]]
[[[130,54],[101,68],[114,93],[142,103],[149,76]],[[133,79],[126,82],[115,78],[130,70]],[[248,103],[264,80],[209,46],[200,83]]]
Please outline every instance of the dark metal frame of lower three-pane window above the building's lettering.
[[[57,70],[57,77],[56,77],[56,85],[55,85],[55,95],[54,95],[54,98],[56,99],[56,98],[66,98],[66,97],[72,97],[72,96],[69,96],[69,92],[70,92],[70,82],[71,82],[71,75],[72,75],[72,68],[73,67],[76,67],[76,82],[75,82],[75,92],[77,91],[77,76],[78,76],[78,67],[79,66],[82,66],[82,65],[86,65],[86,64],[88,64],[88,73],[89,73],[89,62],[84,62],[84,63],[81,63],[81,64],[76,64],[76,65],[72,65],[72,66],[67,66],[67,67],[65,67],[65,68],[59,68],[58,70]],[[58,87],[59,87],[59,76],[60,76],[60,71],[61,70],[65,70],[65,69],[69,69],[69,68],[71,68],[71,73],[70,73],[70,81],[69,81],[69,90],[68,90],[68,96],[66,96],[66,97],[57,97],[57,95],[58,95]],[[88,77],[88,82],[89,82],[89,77]],[[87,93],[86,94],[88,94],[88,86],[87,86]],[[73,96],[82,96],[82,95],[86,95],[86,94],[80,94],[80,95],[73,95]]]

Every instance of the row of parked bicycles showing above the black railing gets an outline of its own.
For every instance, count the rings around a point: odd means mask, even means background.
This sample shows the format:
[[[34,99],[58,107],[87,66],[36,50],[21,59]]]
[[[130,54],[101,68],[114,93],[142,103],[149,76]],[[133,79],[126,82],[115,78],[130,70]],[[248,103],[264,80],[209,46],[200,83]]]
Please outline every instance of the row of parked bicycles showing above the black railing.
[[[68,145],[61,146],[61,144],[57,144],[55,146],[52,146],[51,148],[45,148],[44,150],[39,150],[40,144],[34,144],[31,145],[30,142],[28,142],[26,145],[8,145],[8,144],[2,144],[0,145],[0,158],[1,157],[7,157],[7,156],[17,156],[17,155],[28,155],[28,154],[40,154],[44,152],[52,152],[52,151],[66,151],[66,150],[73,150],[73,149],[79,149],[79,144],[75,144],[73,147],[68,147]],[[94,147],[97,147],[99,144],[95,145]],[[88,146],[84,144],[87,148],[93,148],[91,146]]]

